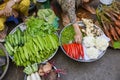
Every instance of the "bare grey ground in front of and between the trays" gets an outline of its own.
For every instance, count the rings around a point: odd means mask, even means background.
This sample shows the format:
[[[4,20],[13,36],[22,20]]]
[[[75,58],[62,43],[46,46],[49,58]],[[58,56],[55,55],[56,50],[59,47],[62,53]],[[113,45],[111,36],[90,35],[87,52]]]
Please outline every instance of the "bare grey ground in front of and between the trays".
[[[60,80],[120,80],[120,50],[108,48],[98,61],[81,63],[67,57],[59,48],[52,61],[66,73],[61,74]],[[17,67],[10,61],[3,80],[24,80],[23,67]]]

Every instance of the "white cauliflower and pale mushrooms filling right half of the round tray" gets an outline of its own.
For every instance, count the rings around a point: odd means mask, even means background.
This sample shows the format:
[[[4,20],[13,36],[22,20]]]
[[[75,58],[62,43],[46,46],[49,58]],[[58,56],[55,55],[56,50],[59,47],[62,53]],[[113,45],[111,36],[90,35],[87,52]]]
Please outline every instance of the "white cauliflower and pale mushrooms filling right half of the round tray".
[[[109,46],[109,38],[104,35],[102,30],[94,25],[91,19],[82,19],[85,29],[82,31],[86,34],[83,37],[83,45],[85,46],[86,59],[96,60],[105,53]]]

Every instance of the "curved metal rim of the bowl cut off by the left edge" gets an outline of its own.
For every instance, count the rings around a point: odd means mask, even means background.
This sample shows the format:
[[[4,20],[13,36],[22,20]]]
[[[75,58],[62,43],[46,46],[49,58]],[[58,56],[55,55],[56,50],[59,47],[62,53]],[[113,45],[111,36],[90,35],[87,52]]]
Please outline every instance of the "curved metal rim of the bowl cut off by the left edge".
[[[8,53],[5,49],[5,47],[0,43],[0,48],[4,51],[5,55],[6,55],[6,65],[5,65],[5,69],[2,73],[2,75],[0,76],[0,80],[2,80],[2,78],[5,76],[5,74],[7,73],[8,67],[9,67],[9,56]]]

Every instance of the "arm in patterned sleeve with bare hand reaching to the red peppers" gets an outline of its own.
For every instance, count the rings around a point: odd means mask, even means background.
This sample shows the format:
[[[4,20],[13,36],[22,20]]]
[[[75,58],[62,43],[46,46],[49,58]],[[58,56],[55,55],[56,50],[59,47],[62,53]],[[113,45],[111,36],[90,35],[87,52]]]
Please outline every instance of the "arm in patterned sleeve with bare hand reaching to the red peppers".
[[[79,29],[79,25],[76,23],[77,22],[77,17],[76,17],[76,13],[75,13],[75,0],[72,0],[70,2],[69,5],[69,9],[68,9],[68,16],[70,18],[71,23],[73,24],[74,27],[74,31],[75,31],[75,42],[77,43],[81,43],[82,41],[82,33]]]

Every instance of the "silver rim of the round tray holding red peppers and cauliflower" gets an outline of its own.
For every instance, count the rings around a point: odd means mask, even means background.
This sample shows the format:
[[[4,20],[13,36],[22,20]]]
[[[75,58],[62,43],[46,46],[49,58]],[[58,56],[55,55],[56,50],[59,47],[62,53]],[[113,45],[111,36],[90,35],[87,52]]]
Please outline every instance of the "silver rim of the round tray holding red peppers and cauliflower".
[[[83,24],[81,21],[79,21],[78,24],[79,24],[81,27],[84,27],[84,24]],[[62,47],[61,36],[62,36],[62,32],[64,31],[64,29],[67,28],[67,27],[69,27],[69,26],[71,26],[71,25],[72,25],[72,24],[68,24],[67,26],[65,26],[65,27],[62,29],[62,31],[60,32],[60,36],[59,36],[60,47],[61,47],[62,51],[63,51],[69,58],[71,58],[71,57],[66,53],[66,51],[65,51],[64,48]],[[95,26],[96,26],[96,25],[95,25]],[[98,26],[96,26],[96,28],[100,29]],[[103,31],[102,31],[101,29],[100,29],[100,31],[101,31],[101,35],[104,35],[104,33],[103,33]],[[99,60],[99,59],[105,54],[105,52],[106,52],[106,50],[103,51],[103,52],[97,57],[97,59],[89,59],[89,60],[85,60],[85,59],[74,59],[74,58],[71,58],[71,59],[73,59],[73,60],[75,60],[75,61],[78,61],[78,62],[93,62],[93,61]]]

